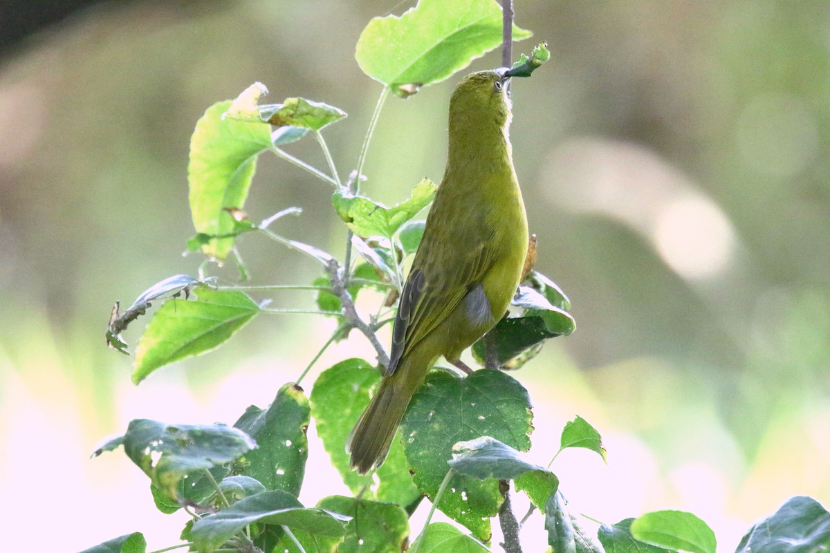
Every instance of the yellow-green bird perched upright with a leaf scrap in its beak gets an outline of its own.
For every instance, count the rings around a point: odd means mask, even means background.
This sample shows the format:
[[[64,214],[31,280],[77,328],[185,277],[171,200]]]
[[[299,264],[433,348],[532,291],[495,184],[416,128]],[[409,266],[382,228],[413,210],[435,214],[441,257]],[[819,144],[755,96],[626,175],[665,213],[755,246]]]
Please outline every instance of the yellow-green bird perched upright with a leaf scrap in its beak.
[[[467,75],[450,99],[447,169],[395,318],[389,366],[349,437],[351,466],[380,466],[427,371],[505,314],[528,245],[510,148],[506,70]]]

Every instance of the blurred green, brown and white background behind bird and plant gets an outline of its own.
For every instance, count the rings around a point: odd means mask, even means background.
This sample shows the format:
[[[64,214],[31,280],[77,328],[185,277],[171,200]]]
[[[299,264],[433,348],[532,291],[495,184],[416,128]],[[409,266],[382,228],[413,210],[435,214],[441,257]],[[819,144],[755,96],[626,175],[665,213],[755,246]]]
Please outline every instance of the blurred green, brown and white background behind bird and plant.
[[[151,549],[173,545],[183,519],[155,513],[147,479],[122,454],[88,460],[95,444],[139,417],[232,422],[267,405],[325,342],[328,321],[261,317],[136,388],[104,330],[116,299],[198,269],[198,256],[181,253],[193,235],[188,140],[204,109],[256,80],[269,101],[336,105],[349,119],[325,135],[346,177],[380,92],[354,44],[371,17],[413,3],[100,2],[4,46],[8,549],[47,529],[61,551],[129,531],[144,531]],[[723,551],[791,495],[827,504],[827,2],[515,0],[515,11],[535,32],[516,55],[543,39],[553,55],[513,86],[515,166],[537,268],[569,293],[579,325],[515,373],[537,406],[532,455],[547,463],[579,413],[603,433],[609,466],[579,452],[554,463],[577,510],[608,522],[689,510]],[[492,53],[471,69],[496,65]],[[421,177],[440,180],[456,81],[388,100],[365,192],[395,202]],[[312,140],[288,149],[325,167]],[[261,158],[247,211],[258,220],[287,206],[305,213],[276,230],[342,256],[327,185]],[[318,273],[258,236],[239,245],[256,284]],[[274,300],[308,307],[313,297]],[[370,356],[356,335],[317,369],[353,354]],[[314,444],[308,502],[341,489]]]

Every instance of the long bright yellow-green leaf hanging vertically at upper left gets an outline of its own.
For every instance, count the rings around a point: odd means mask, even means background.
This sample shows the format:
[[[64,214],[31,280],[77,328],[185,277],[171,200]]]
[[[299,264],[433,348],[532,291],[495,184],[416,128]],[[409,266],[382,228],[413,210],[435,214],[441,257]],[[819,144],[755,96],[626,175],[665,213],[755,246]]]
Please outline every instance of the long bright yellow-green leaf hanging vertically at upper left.
[[[271,148],[271,126],[223,117],[231,104],[227,100],[208,108],[190,139],[190,213],[196,232],[205,235],[226,235],[234,229],[233,217],[224,210],[245,206],[256,158]],[[232,245],[232,238],[216,239],[202,251],[224,260]]]

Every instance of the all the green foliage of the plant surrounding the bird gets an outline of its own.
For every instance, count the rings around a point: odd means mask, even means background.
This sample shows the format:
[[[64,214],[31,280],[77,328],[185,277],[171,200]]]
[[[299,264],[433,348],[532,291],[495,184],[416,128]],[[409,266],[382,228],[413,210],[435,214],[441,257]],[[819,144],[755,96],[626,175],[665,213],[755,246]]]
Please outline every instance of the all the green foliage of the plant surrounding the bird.
[[[368,136],[388,92],[405,97],[466,67],[472,58],[500,44],[501,22],[493,0],[421,0],[402,17],[370,22],[360,36],[356,57],[364,72],[383,84],[383,93]],[[513,36],[521,39],[530,33],[515,27]],[[548,57],[546,48],[537,46],[530,58],[522,56],[517,62],[514,75],[530,75]],[[248,274],[237,255],[237,238],[263,233],[321,265],[320,279],[297,287],[315,289],[316,313],[339,322],[326,346],[346,337],[351,328],[371,340],[374,331],[391,320],[390,306],[403,285],[404,260],[417,249],[423,233],[423,221],[415,217],[432,201],[436,186],[425,179],[396,206],[361,195],[367,143],[352,177],[342,182],[322,134],[346,117],[344,111],[302,98],[260,104],[265,92],[264,86],[252,85],[236,100],[214,104],[196,125],[188,179],[197,234],[188,240],[188,250],[200,251],[212,261],[235,259],[244,280]],[[320,143],[328,172],[283,149],[309,135]],[[247,194],[257,159],[266,152],[334,187],[334,212],[349,230],[344,264],[328,252],[271,230],[281,216],[299,211],[296,208],[258,224],[248,219],[243,211]],[[353,249],[358,254],[354,262]],[[502,369],[516,369],[534,357],[545,340],[574,331],[567,296],[533,270],[532,263],[525,273],[510,317],[472,347],[479,361],[495,359]],[[388,301],[369,322],[354,308],[354,298],[365,288],[388,292]],[[140,294],[125,313],[116,304],[107,342],[127,352],[121,332],[151,302],[164,300],[136,348],[132,377],[138,384],[162,366],[218,347],[257,315],[279,312],[254,301],[243,289],[220,286],[201,271],[198,279],[170,277]],[[373,344],[382,360],[385,352],[376,337]],[[559,478],[524,458],[533,429],[530,397],[505,371],[475,371],[466,378],[453,371],[432,371],[414,396],[386,462],[365,476],[349,469],[344,443],[378,386],[379,371],[363,359],[341,361],[317,377],[310,396],[299,386],[303,376],[282,386],[266,409],[251,405],[232,426],[133,420],[124,435],[110,439],[95,454],[123,448],[149,477],[161,512],[184,509],[191,515],[180,546],[201,553],[403,551],[410,540],[409,517],[423,497],[460,526],[427,523],[413,548],[490,551],[486,544],[491,521],[506,517],[510,483],[544,513],[544,529],[557,552],[715,551],[709,527],[685,512],[650,513],[603,525],[594,536],[584,531],[582,517],[569,512]],[[305,433],[312,418],[331,463],[354,497],[323,497],[313,507],[300,503],[309,455]],[[579,417],[565,425],[559,452],[574,447],[605,458],[598,432]],[[794,499],[750,531],[740,551],[763,551],[774,540],[826,545],[828,518],[812,500]],[[809,526],[815,521],[821,521],[818,534]],[[144,536],[134,533],[86,551],[144,553],[146,543]],[[815,550],[793,546],[775,551]]]

